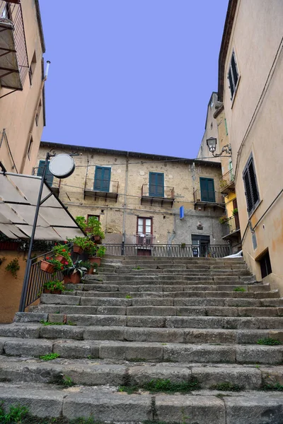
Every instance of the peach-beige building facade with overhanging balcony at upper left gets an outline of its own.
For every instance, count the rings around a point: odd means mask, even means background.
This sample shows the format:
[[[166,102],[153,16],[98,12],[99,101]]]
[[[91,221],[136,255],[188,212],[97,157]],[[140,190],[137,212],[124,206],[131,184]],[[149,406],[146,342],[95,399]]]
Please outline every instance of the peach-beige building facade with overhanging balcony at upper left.
[[[0,162],[31,174],[45,126],[45,41],[38,0],[0,1]]]

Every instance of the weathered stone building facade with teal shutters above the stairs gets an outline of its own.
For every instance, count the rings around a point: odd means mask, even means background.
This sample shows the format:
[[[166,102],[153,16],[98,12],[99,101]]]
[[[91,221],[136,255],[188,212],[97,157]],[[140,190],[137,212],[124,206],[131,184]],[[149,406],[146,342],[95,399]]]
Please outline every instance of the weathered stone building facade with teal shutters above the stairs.
[[[105,243],[226,245],[220,163],[42,142],[35,175],[47,151],[81,153],[73,175],[49,182],[73,216],[98,217]]]

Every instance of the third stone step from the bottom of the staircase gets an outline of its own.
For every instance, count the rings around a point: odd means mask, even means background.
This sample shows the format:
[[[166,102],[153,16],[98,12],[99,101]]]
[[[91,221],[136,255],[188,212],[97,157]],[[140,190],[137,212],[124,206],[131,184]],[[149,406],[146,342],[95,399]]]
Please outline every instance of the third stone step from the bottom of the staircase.
[[[0,338],[0,353],[38,357],[58,353],[62,358],[156,360],[170,363],[282,364],[283,346],[142,343],[72,340],[67,338]]]

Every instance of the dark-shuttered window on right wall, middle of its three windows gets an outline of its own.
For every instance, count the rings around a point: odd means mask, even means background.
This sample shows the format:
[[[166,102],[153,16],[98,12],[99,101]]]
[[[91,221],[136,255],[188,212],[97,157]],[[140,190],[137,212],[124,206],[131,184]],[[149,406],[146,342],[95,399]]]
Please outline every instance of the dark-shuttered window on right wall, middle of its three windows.
[[[255,165],[253,163],[253,155],[250,155],[248,163],[243,170],[243,184],[245,186],[247,210],[250,215],[260,203],[258,194],[258,183],[255,175]]]

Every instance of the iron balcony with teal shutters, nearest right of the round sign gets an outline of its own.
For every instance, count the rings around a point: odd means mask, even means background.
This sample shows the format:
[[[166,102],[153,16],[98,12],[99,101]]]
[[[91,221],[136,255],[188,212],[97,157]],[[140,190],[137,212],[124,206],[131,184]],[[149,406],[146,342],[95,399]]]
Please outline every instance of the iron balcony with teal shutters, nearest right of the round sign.
[[[117,202],[119,182],[108,179],[86,178],[83,190],[83,198],[92,196],[96,199],[114,199]]]

